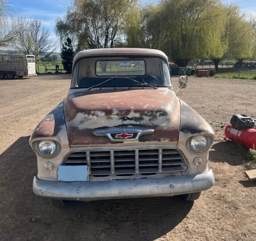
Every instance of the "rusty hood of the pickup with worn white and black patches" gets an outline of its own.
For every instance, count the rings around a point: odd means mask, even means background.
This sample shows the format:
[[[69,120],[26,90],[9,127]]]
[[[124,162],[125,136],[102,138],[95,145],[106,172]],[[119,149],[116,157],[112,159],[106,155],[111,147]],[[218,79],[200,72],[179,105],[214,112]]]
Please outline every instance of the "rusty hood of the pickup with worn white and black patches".
[[[130,90],[71,89],[64,103],[70,145],[110,144],[93,131],[151,128],[138,142],[178,141],[180,101],[167,88]]]

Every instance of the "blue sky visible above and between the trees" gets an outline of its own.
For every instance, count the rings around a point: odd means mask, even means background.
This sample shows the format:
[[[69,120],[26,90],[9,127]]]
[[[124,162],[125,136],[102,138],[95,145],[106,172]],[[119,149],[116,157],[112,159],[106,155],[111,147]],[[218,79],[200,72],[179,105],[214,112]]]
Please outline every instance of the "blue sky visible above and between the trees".
[[[55,38],[56,18],[63,17],[67,7],[71,4],[71,0],[7,0],[7,2],[17,13],[24,15],[26,18],[41,19],[53,38]],[[143,2],[157,2],[157,0],[144,0]],[[224,0],[223,2],[236,3],[244,12],[256,17],[256,0]]]

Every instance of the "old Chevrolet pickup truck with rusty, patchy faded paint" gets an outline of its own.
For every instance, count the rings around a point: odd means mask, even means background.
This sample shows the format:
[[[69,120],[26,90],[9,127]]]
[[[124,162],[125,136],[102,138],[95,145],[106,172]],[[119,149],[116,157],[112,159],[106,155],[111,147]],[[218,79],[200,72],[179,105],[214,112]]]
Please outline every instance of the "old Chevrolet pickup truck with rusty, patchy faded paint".
[[[187,86],[187,76],[179,79]],[[214,184],[214,132],[180,100],[167,56],[155,49],[76,54],[68,96],[35,128],[33,191],[91,201],[154,196],[196,200]]]

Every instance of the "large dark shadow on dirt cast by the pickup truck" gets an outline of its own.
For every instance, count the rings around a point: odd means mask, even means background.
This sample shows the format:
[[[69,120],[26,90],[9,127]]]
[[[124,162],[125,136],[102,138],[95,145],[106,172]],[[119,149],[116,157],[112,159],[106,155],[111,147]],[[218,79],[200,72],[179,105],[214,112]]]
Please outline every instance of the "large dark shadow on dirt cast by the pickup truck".
[[[32,192],[37,167],[28,140],[20,137],[0,155],[1,240],[155,240],[192,208],[193,203],[168,197],[52,207]]]

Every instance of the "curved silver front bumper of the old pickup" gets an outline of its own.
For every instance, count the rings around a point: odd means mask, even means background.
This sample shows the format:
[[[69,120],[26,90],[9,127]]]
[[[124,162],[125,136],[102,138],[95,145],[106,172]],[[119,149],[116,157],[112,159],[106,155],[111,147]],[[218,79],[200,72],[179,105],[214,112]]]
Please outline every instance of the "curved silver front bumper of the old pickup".
[[[34,177],[33,192],[42,197],[92,201],[137,197],[175,196],[200,192],[214,184],[213,171],[196,176],[171,176],[134,180],[60,182]]]

